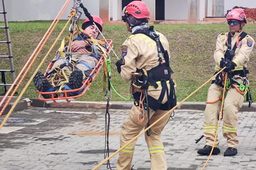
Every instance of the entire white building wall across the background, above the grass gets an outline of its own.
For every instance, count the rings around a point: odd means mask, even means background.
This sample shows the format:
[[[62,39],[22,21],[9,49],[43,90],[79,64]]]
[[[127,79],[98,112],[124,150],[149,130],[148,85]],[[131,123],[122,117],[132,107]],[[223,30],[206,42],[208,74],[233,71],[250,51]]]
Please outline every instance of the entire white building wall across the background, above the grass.
[[[2,1],[2,0],[1,0]],[[143,0],[148,4],[151,11],[151,20],[154,20],[155,0]],[[66,0],[5,0],[8,21],[30,21],[30,20],[53,20]],[[188,0],[165,0],[165,19],[166,20],[188,20]],[[99,15],[99,0],[83,0],[84,6],[90,14]],[[109,0],[109,15],[113,20],[121,20],[122,0]],[[205,0],[200,0],[199,18],[204,18]],[[70,6],[64,13],[62,20],[68,19]],[[224,13],[233,6],[243,6],[256,8],[256,0],[225,0]],[[3,11],[2,2],[0,11]],[[83,11],[81,10],[83,13]],[[212,0],[207,0],[207,17],[212,17]],[[84,19],[84,13],[81,19]],[[0,21],[3,21],[3,14],[0,14]]]

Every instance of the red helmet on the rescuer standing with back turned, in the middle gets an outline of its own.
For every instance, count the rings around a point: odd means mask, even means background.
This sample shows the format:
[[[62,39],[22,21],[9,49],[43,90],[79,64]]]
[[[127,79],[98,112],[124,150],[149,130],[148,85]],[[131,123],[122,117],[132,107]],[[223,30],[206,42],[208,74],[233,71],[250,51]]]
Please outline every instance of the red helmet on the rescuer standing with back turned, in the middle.
[[[149,13],[147,4],[139,0],[135,0],[129,3],[126,6],[125,11],[123,12],[124,13],[122,14],[122,17],[125,17],[128,14],[131,14],[134,18],[137,18],[137,19],[143,19],[143,18],[150,19],[149,17],[150,13]]]

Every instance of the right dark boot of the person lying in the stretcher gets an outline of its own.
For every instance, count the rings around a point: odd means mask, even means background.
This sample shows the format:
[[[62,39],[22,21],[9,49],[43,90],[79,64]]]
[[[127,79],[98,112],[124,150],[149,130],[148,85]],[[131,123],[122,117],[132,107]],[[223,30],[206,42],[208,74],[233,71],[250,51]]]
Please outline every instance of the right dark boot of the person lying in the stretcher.
[[[81,70],[74,70],[70,74],[67,85],[71,89],[81,88],[81,86],[83,85],[83,73],[82,73],[82,71]],[[67,94],[67,96],[76,96],[76,95],[77,95],[76,92],[70,92],[70,93]]]

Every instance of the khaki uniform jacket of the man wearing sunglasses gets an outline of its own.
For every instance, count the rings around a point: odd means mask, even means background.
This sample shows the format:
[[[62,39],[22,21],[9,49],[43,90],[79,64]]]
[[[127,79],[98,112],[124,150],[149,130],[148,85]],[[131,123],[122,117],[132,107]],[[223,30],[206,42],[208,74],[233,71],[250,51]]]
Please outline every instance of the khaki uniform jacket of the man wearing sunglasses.
[[[236,63],[235,70],[241,70],[244,67],[247,67],[247,62],[249,62],[249,56],[253,50],[254,40],[250,35],[244,37],[244,39],[237,41],[241,32],[236,32],[231,39],[231,49],[236,44],[237,48],[235,55],[232,59]],[[224,54],[227,51],[227,33],[219,34],[216,42],[216,50],[214,52],[214,60],[216,62],[215,70],[220,70],[221,58],[224,58]]]

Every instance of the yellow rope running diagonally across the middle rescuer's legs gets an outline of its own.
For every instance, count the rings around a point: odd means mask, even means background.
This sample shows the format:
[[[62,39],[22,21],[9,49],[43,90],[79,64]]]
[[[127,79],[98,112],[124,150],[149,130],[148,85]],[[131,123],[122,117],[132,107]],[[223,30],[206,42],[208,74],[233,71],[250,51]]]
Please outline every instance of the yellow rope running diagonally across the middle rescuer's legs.
[[[111,156],[109,156],[107,159],[105,159],[104,161],[102,161],[100,164],[98,164],[96,167],[94,167],[92,170],[96,170],[98,167],[102,166],[102,164],[104,164],[106,161],[108,161],[109,159],[111,159],[113,156],[115,156],[117,153],[119,153],[123,148],[125,148],[128,144],[130,144],[131,142],[133,142],[135,139],[137,139],[139,136],[143,135],[148,129],[150,129],[152,126],[154,126],[155,124],[157,124],[157,122],[159,122],[160,120],[162,120],[165,116],[167,116],[169,113],[172,113],[172,111],[174,109],[176,109],[179,105],[181,105],[181,103],[185,102],[189,97],[191,97],[193,94],[195,94],[198,90],[200,90],[201,88],[203,88],[208,82],[212,81],[212,79],[214,79],[219,73],[221,73],[226,67],[222,68],[220,71],[218,71],[218,73],[216,73],[213,77],[211,77],[209,80],[207,80],[203,85],[201,85],[199,88],[197,88],[195,91],[193,91],[191,94],[189,94],[189,96],[187,96],[185,99],[183,99],[181,102],[179,102],[175,107],[173,107],[170,111],[166,112],[162,117],[160,117],[159,119],[157,119],[156,122],[152,123],[150,126],[148,126],[147,128],[145,128],[145,130],[143,130],[140,134],[138,134],[137,136],[135,136],[133,139],[131,139],[128,143],[126,143],[125,145],[123,145],[121,148],[119,148],[119,150],[116,150],[116,152],[114,152]]]

